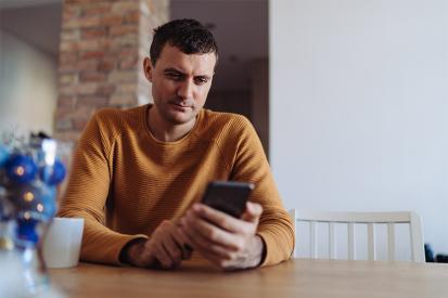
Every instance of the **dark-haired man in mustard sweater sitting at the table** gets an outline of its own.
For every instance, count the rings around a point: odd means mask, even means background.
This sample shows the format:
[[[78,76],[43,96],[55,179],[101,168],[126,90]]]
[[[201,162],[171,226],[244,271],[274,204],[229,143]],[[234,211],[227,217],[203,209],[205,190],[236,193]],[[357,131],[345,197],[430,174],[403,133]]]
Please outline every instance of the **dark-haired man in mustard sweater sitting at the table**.
[[[60,215],[84,217],[81,259],[175,268],[195,251],[222,269],[293,249],[261,144],[246,118],[203,109],[218,48],[194,20],[155,30],[143,61],[154,104],[97,113],[79,140]],[[208,182],[256,185],[239,219],[200,204]]]

